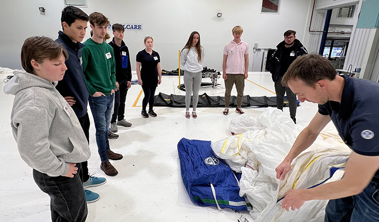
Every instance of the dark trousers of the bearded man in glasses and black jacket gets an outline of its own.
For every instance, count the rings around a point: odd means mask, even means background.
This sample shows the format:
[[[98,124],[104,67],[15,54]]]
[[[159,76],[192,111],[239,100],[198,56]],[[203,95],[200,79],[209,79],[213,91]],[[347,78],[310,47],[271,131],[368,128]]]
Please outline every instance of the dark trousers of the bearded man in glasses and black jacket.
[[[282,85],[282,77],[278,79],[275,83],[275,93],[276,93],[276,107],[283,110],[284,94],[287,95],[288,106],[290,107],[290,117],[296,117],[297,101],[296,94],[292,93],[289,87],[284,87]]]

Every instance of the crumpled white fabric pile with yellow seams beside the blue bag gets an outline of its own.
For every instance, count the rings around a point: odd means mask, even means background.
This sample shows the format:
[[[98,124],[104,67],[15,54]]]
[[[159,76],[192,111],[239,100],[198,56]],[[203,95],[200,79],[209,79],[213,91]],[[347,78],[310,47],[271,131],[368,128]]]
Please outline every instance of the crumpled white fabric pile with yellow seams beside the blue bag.
[[[275,168],[288,154],[302,128],[283,115],[267,108],[254,118],[243,114],[230,122],[236,135],[212,143],[216,156],[242,173],[240,196],[246,195],[254,221],[324,221],[327,200],[311,200],[295,211],[285,211],[281,200],[290,189],[306,189],[341,179],[351,150],[338,139],[335,128],[316,141],[291,164],[282,181]],[[278,202],[277,202],[278,201]]]

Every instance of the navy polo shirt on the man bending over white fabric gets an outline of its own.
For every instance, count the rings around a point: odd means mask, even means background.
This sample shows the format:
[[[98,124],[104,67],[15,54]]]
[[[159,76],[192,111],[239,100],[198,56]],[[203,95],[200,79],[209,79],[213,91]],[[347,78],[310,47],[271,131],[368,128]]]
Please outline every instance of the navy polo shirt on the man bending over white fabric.
[[[341,103],[318,105],[318,113],[329,115],[343,141],[355,153],[379,156],[379,84],[342,76]],[[379,181],[379,171],[374,176]]]

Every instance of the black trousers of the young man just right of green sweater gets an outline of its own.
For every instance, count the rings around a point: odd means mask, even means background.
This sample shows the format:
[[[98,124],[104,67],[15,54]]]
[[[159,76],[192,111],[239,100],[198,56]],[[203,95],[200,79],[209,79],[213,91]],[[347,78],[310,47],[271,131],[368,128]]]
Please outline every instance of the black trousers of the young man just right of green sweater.
[[[126,94],[128,93],[128,81],[119,81],[118,85],[118,90],[114,92],[114,109],[111,123],[115,123],[116,120],[121,121],[125,118],[125,101]]]

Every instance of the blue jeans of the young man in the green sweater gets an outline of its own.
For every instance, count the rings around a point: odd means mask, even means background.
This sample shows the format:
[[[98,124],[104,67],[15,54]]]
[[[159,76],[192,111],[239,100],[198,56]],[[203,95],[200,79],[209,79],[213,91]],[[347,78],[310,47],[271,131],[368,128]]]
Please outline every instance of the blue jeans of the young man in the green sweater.
[[[88,97],[93,121],[95,122],[97,151],[102,162],[108,161],[107,151],[110,150],[108,130],[111,121],[113,97],[114,94],[99,97]]]

